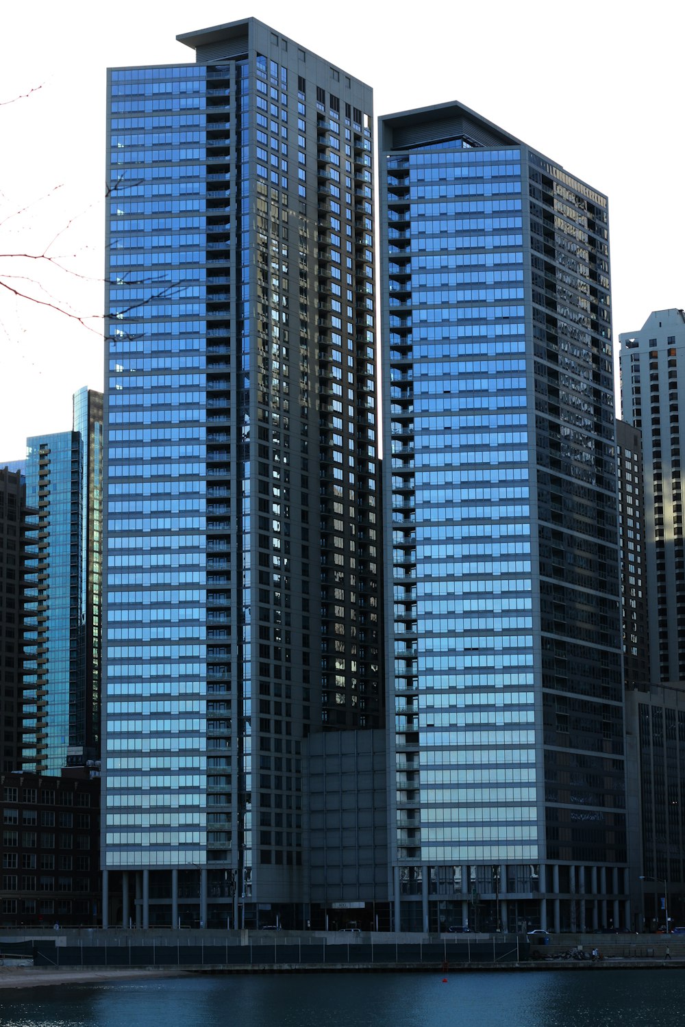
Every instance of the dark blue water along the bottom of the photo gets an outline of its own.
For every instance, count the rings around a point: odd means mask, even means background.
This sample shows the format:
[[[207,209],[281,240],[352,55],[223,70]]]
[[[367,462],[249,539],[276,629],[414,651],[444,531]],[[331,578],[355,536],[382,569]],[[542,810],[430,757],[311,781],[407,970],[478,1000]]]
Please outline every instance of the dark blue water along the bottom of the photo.
[[[165,978],[0,991],[2,1027],[674,1027],[683,969]]]

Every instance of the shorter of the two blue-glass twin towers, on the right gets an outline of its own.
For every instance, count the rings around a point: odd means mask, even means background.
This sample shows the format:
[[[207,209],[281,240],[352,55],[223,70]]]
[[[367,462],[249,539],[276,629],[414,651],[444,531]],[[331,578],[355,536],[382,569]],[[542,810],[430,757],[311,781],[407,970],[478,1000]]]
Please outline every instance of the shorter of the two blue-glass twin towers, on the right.
[[[395,925],[622,926],[607,201],[459,104],[379,141]]]

